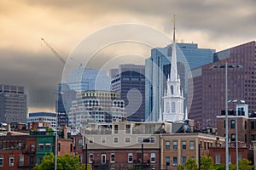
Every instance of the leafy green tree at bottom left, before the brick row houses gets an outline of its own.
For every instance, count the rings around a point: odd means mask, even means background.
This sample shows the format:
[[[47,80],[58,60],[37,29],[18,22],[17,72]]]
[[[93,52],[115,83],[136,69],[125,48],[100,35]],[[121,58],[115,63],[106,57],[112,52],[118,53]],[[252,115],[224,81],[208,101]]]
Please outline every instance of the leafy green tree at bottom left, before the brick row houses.
[[[49,170],[55,169],[55,156],[53,153],[50,153],[47,156],[43,157],[43,160],[40,165],[36,165],[34,170]],[[78,156],[70,156],[66,154],[65,156],[57,157],[57,170],[82,170],[85,169],[84,164],[79,165]],[[88,168],[90,170],[90,167]]]

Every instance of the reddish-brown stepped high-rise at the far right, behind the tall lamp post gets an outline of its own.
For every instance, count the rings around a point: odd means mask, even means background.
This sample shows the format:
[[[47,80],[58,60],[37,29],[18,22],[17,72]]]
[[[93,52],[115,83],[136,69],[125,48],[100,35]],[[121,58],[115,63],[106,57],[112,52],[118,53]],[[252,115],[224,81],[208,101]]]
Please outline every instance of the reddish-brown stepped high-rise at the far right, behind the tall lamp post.
[[[247,42],[214,54],[214,63],[192,71],[189,83],[189,100],[192,105],[189,118],[200,122],[201,127],[216,127],[216,116],[225,110],[225,63],[227,70],[228,100],[245,100],[249,112],[256,111],[256,43]],[[236,66],[241,65],[242,68]],[[215,69],[210,69],[217,67]],[[193,94],[192,94],[193,91]],[[229,109],[234,110],[232,102]]]

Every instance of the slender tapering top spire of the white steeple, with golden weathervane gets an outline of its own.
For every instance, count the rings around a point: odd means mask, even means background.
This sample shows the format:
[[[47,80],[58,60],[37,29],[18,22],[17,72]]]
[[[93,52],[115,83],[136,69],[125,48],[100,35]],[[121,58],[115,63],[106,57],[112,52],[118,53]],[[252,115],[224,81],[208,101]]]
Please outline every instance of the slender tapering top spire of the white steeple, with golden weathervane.
[[[175,14],[173,22],[173,42],[172,42],[172,63],[171,63],[171,82],[177,82],[177,54],[176,54],[176,40],[175,40]]]

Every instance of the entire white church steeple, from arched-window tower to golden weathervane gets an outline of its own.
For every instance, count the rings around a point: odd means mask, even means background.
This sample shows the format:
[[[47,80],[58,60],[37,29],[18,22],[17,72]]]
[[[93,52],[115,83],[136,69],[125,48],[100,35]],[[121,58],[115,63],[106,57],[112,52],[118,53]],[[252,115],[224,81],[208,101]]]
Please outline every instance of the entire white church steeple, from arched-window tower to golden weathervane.
[[[164,112],[160,115],[160,121],[178,122],[183,121],[183,92],[180,79],[177,75],[177,47],[175,39],[175,15],[173,21],[173,42],[170,75],[166,81],[166,94],[163,96]]]

